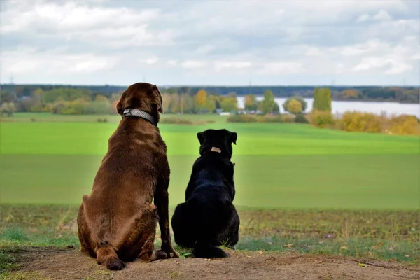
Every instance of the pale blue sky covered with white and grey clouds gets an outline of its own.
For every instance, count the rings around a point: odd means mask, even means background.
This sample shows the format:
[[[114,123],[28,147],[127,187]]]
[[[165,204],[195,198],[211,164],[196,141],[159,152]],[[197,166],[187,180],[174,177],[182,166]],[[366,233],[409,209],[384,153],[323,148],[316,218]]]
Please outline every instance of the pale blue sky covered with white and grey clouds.
[[[4,1],[0,79],[419,85],[420,1]]]

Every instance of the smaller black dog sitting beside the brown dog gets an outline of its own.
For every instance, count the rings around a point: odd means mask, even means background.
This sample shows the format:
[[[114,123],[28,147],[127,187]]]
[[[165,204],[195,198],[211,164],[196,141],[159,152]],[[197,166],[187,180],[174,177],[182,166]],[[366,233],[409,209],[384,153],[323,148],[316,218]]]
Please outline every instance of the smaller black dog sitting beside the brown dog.
[[[196,258],[225,258],[218,246],[230,248],[239,239],[239,216],[232,202],[232,143],[237,134],[228,130],[206,130],[197,133],[200,158],[193,165],[186,190],[186,202],[179,204],[172,216],[175,242],[193,248]]]

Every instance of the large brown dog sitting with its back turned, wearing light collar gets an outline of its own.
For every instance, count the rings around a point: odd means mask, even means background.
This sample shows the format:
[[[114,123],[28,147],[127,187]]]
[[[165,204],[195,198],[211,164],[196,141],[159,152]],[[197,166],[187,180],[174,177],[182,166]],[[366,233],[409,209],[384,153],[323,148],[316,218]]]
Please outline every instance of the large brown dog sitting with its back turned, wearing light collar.
[[[125,118],[126,109],[139,109],[146,117]],[[92,193],[83,196],[79,209],[82,251],[115,270],[136,258],[145,262],[178,258],[169,233],[167,147],[155,126],[163,113],[158,87],[130,85],[117,111],[123,120],[109,139]],[[154,249],[158,221],[161,250]]]

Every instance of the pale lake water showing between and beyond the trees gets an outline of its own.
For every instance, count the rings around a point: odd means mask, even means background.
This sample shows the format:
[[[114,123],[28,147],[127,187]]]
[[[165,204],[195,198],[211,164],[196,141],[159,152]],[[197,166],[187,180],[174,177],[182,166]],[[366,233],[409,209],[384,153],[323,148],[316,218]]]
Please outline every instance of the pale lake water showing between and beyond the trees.
[[[262,100],[264,97],[256,97],[257,100]],[[277,104],[279,104],[280,112],[284,113],[283,103],[287,98],[275,98]],[[307,102],[306,112],[312,110],[313,98],[304,98]],[[244,108],[244,97],[238,97],[239,108]],[[393,115],[414,115],[420,118],[420,104],[401,104],[395,102],[362,102],[362,101],[332,101],[331,102],[332,113],[341,115],[345,111],[361,111],[367,113],[380,114],[386,113],[386,116]]]

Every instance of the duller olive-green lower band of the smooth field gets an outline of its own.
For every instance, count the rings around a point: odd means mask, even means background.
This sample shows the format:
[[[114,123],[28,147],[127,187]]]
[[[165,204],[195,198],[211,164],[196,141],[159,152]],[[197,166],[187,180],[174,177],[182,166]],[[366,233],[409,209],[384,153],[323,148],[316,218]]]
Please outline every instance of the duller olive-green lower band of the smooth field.
[[[1,202],[80,204],[101,160],[99,155],[1,155]],[[169,156],[172,206],[184,199],[194,160]],[[417,155],[237,155],[234,162],[239,206],[419,207]]]

